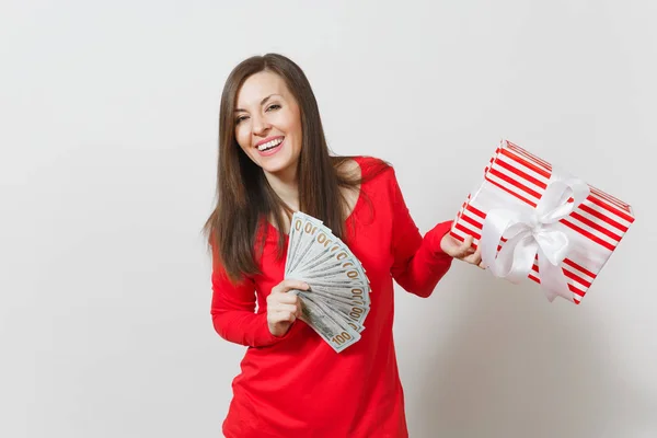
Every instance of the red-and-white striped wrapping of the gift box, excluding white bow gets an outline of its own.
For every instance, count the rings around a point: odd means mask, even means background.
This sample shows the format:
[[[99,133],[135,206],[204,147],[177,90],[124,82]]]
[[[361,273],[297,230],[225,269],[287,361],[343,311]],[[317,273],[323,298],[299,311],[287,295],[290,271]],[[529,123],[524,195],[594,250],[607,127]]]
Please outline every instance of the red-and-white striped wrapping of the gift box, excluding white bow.
[[[481,186],[468,196],[459,210],[451,235],[461,241],[466,235],[472,235],[476,247],[486,211],[498,207],[496,204],[504,197],[512,197],[535,207],[545,192],[551,174],[550,163],[503,140],[484,171]],[[574,242],[572,251],[562,263],[562,270],[573,292],[573,302],[577,304],[634,222],[630,205],[590,184],[588,186],[590,194],[587,199],[560,221]],[[504,242],[503,238],[498,249]],[[540,283],[535,260],[529,278]]]

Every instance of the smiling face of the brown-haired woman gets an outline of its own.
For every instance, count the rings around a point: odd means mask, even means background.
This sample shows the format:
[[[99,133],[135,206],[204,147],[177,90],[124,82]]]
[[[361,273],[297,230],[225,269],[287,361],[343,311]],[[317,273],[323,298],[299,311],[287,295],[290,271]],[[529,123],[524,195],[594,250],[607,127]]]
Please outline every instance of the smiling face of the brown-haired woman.
[[[270,71],[249,77],[238,92],[235,139],[266,173],[296,176],[301,153],[299,105],[285,81]]]

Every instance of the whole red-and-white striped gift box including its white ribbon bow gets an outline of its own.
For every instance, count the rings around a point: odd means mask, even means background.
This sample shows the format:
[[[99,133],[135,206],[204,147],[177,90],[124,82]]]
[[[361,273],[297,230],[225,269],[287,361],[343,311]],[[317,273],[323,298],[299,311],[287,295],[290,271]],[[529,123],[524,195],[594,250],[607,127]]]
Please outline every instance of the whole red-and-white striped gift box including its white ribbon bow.
[[[503,140],[451,228],[493,275],[578,304],[630,226],[632,207]]]

